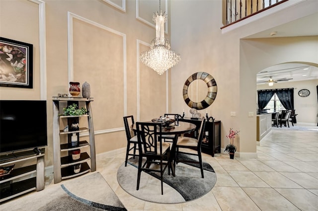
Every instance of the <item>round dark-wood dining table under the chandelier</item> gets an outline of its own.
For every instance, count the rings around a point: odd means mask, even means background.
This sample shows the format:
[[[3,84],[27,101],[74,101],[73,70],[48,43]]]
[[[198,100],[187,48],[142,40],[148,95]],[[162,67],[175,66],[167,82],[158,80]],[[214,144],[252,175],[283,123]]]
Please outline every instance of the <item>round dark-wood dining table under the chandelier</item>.
[[[152,121],[148,121],[152,122]],[[137,131],[136,123],[130,126],[131,130]],[[174,139],[172,142],[172,146],[170,149],[170,157],[173,159],[173,169],[172,169],[172,175],[175,176],[174,168],[175,168],[175,149],[176,149],[176,143],[178,140],[178,137],[181,134],[191,133],[192,131],[195,131],[196,125],[189,123],[189,122],[179,122],[178,125],[170,124],[169,127],[162,127],[161,134],[162,135],[174,135]]]

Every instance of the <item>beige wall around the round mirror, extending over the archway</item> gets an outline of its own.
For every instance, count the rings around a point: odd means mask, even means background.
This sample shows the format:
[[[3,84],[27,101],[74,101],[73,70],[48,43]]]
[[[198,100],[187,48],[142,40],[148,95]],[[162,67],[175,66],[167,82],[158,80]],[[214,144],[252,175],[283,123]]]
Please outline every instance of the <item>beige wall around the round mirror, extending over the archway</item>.
[[[310,7],[313,7],[310,3],[314,1],[297,5],[302,8],[304,4],[309,5],[305,6],[308,11],[295,13],[298,7],[289,6],[270,17],[242,24],[239,28],[221,30],[221,1],[171,1],[171,43],[183,59],[171,71],[172,111],[185,109],[189,116],[190,108],[181,95],[183,84],[194,72],[210,73],[217,82],[218,93],[208,111],[209,115],[222,121],[221,147],[229,144],[226,135],[230,128],[234,128],[240,131],[239,138],[235,140],[239,155],[255,156],[256,73],[284,62],[318,64],[318,37],[244,38],[299,18],[301,14],[309,15],[312,12]],[[231,112],[236,112],[236,116],[231,117]],[[254,117],[248,117],[248,112],[254,112]]]

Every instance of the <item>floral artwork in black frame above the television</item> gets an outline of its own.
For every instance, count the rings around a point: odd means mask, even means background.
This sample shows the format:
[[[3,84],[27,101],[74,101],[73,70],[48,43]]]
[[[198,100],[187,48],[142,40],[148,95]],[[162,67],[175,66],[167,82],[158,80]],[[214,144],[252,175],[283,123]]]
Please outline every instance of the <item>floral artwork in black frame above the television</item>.
[[[33,88],[33,45],[0,37],[0,86]]]

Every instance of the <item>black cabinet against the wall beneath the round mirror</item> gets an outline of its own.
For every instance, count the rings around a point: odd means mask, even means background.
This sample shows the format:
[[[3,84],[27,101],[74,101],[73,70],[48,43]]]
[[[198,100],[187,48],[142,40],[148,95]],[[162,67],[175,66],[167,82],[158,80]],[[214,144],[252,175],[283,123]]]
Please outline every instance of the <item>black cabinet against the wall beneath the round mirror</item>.
[[[184,136],[197,138],[198,137],[198,130],[200,128],[202,119],[191,119],[191,118],[183,118],[179,119],[179,122],[190,122],[195,124],[196,130],[190,134],[185,134]],[[212,120],[209,120],[206,122],[204,127],[204,136],[203,141],[201,145],[202,152],[206,154],[212,155],[214,157],[215,153],[221,152],[221,121],[215,120],[214,122]]]

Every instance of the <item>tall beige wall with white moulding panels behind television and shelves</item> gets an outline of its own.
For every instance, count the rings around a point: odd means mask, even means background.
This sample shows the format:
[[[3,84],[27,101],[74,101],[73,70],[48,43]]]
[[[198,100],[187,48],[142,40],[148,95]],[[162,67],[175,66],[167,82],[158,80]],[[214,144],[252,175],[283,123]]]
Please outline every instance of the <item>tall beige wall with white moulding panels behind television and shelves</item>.
[[[39,13],[44,4],[46,70],[39,64]],[[165,5],[161,3],[163,11]],[[137,19],[135,0],[126,0],[126,11],[102,0],[0,0],[0,36],[34,45],[33,89],[0,87],[0,99],[47,99],[46,166],[53,165],[52,96],[68,93],[69,81],[91,86],[96,153],[126,146],[123,116],[149,120],[166,112],[168,77],[139,61],[139,53],[148,50],[156,36],[145,21],[155,24],[152,15],[159,2],[140,1],[139,6]],[[46,81],[40,79],[43,71]]]

